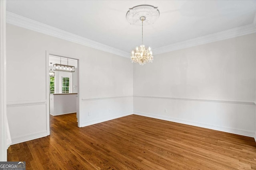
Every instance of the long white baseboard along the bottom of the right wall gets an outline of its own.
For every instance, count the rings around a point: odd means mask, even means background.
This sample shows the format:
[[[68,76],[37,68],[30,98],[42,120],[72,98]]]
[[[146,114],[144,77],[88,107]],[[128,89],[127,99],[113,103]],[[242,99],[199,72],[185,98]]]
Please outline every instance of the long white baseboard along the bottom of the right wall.
[[[156,114],[143,113],[143,112],[139,112],[139,111],[134,111],[134,114],[135,115],[146,116],[146,117],[151,117],[151,118],[155,118],[155,119],[172,121],[172,122],[176,122],[176,123],[182,123],[182,124],[186,124],[186,125],[203,127],[203,128],[206,128],[206,129],[212,129],[212,130],[216,130],[216,131],[233,133],[233,134],[236,134],[236,135],[243,135],[243,136],[247,136],[247,137],[254,137],[254,135],[255,135],[255,132],[246,131],[246,130],[243,130],[243,129],[235,129],[235,128],[231,128],[231,127],[210,125],[210,124],[207,124],[207,123],[200,123],[200,122],[196,122],[196,121],[188,121],[188,120],[184,120],[184,119],[177,119],[177,118],[172,118],[172,117],[159,116],[159,115],[156,115]]]

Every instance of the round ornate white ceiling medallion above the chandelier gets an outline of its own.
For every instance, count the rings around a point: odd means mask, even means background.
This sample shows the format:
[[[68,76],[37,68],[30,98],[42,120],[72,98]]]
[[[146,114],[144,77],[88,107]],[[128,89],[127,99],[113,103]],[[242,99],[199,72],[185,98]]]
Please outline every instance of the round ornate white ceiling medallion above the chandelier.
[[[160,16],[160,12],[152,5],[138,5],[133,8],[129,8],[126,13],[126,20],[131,25],[141,25],[140,17],[144,16],[147,20],[144,21],[144,25],[153,24]]]

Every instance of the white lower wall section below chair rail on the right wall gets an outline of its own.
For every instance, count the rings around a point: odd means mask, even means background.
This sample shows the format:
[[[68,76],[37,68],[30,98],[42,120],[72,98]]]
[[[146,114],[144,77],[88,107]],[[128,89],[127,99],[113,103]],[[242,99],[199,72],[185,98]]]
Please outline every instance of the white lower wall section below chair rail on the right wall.
[[[255,105],[134,96],[134,114],[248,137],[255,136]]]

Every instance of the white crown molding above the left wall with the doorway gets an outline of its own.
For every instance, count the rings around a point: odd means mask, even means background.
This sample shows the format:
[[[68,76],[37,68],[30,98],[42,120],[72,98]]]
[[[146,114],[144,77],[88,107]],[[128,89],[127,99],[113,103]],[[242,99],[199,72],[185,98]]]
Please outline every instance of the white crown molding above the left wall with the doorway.
[[[126,58],[130,57],[130,53],[128,53],[126,51],[122,51],[122,50],[116,49],[114,47],[110,47],[108,45],[98,43],[91,39],[87,39],[87,38],[69,33],[67,31],[63,31],[61,29],[46,25],[44,23],[40,23],[38,21],[34,21],[31,19],[25,18],[23,16],[14,14],[12,12],[6,12],[6,22],[10,23],[12,25],[16,25],[18,27],[23,27],[26,29],[30,29],[32,31],[44,33],[44,34],[47,34],[47,35],[50,35],[53,37],[57,37],[60,39],[64,39],[67,41],[85,45],[87,47],[91,47],[94,49],[98,49],[98,50],[112,53],[115,55],[119,55],[122,57],[126,57]]]

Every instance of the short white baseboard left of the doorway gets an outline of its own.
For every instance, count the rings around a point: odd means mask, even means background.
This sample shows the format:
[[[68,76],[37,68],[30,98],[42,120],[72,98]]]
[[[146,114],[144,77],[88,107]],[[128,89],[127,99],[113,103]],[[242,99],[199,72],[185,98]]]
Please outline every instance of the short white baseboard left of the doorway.
[[[40,131],[40,132],[36,132],[36,133],[30,133],[28,135],[14,137],[14,138],[12,138],[12,145],[17,144],[17,143],[26,142],[26,141],[31,141],[31,140],[38,139],[40,137],[46,137],[46,136],[47,136],[46,131]]]

